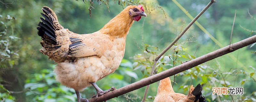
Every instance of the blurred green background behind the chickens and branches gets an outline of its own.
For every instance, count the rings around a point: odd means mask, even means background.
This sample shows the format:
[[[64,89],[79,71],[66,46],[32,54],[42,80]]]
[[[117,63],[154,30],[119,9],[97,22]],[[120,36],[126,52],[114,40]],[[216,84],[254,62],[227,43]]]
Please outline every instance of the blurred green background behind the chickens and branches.
[[[90,0],[91,1],[91,0]],[[127,4],[143,3],[148,17],[134,22],[126,39],[120,67],[98,81],[101,89],[121,88],[149,76],[154,58],[167,47],[210,0],[98,0],[90,11],[82,0],[1,0],[0,1],[0,99],[1,102],[76,102],[73,89],[55,80],[55,64],[39,52],[37,35],[41,8],[52,8],[65,28],[75,33],[93,33],[114,18]],[[92,1],[91,1],[92,2]],[[181,6],[177,6],[179,3]],[[256,34],[255,0],[217,0],[157,63],[155,73]],[[185,8],[184,13],[180,8]],[[108,9],[109,8],[109,9]],[[202,25],[198,27],[198,25]],[[255,43],[254,43],[255,44]],[[202,84],[207,101],[256,102],[256,45],[188,69],[170,77],[175,92],[188,93],[191,84]],[[99,84],[100,83],[100,84]],[[147,102],[156,96],[159,82],[151,84]],[[212,95],[212,87],[244,87],[244,95]],[[145,87],[109,102],[140,102]],[[85,88],[83,98],[96,94]]]

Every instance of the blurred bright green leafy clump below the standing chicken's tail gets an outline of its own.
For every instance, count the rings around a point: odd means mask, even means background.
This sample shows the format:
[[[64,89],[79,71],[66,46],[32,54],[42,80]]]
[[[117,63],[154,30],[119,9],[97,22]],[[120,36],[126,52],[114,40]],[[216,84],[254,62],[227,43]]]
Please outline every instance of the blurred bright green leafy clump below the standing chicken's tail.
[[[52,69],[43,69],[40,73],[31,74],[26,80],[25,90],[29,101],[37,102],[75,102],[76,94],[73,89],[61,85],[55,80]]]

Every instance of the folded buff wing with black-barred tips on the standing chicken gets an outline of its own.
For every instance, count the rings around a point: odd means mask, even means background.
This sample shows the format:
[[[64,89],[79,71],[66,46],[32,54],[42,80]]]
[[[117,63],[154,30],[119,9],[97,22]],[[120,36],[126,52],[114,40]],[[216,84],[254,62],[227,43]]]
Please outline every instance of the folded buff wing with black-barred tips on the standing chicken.
[[[108,48],[113,46],[107,34],[83,34],[77,38],[70,39],[73,39],[74,42],[69,45],[69,57],[101,56]]]

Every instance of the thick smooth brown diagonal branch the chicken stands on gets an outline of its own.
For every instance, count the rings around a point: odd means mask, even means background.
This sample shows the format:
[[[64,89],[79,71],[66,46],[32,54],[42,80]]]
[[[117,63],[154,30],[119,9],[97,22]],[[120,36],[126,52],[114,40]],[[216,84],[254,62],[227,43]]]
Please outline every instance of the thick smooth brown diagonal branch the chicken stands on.
[[[111,98],[118,97],[118,96],[123,95],[125,93],[137,90],[137,89],[142,88],[144,86],[147,86],[149,84],[160,81],[160,80],[162,80],[166,77],[170,77],[170,76],[175,75],[177,73],[180,73],[182,71],[191,69],[191,68],[193,68],[197,65],[200,65],[200,64],[202,64],[204,62],[207,62],[207,61],[210,61],[214,58],[217,58],[217,57],[220,57],[222,55],[231,53],[231,52],[233,52],[233,51],[235,51],[239,48],[246,47],[246,46],[248,46],[250,44],[253,44],[255,42],[256,42],[256,35],[254,35],[250,38],[247,38],[245,40],[236,42],[234,44],[231,44],[230,49],[232,49],[232,50],[229,49],[229,45],[228,45],[226,47],[220,48],[216,51],[213,51],[211,53],[208,53],[206,55],[198,57],[198,58],[196,58],[194,60],[191,60],[189,62],[183,63],[179,66],[176,66],[176,67],[173,67],[171,69],[165,70],[165,71],[163,71],[161,73],[158,73],[156,75],[153,75],[151,77],[147,77],[147,78],[142,79],[138,82],[132,83],[132,84],[127,85],[127,86],[124,86],[120,89],[116,89],[114,91],[103,94],[102,96],[98,97],[97,100],[95,100],[95,98],[91,98],[91,99],[89,99],[89,102],[102,102],[102,101],[105,101],[105,100],[108,100],[108,99],[111,99]]]

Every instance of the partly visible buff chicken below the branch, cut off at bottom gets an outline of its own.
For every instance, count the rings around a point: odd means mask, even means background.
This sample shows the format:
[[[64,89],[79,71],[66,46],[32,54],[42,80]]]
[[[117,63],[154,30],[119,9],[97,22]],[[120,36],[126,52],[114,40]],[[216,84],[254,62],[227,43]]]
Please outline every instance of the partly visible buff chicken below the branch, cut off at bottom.
[[[154,102],[206,102],[202,96],[202,86],[198,84],[196,88],[191,85],[188,95],[176,93],[172,89],[169,77],[160,81]]]

